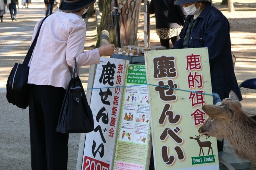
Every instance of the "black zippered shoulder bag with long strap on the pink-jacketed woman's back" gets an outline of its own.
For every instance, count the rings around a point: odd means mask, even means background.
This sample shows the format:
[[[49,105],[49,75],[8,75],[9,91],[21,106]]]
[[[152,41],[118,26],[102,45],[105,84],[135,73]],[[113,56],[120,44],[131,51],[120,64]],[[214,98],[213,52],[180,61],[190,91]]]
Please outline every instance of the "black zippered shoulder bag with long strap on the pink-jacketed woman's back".
[[[29,88],[28,88],[29,66],[28,64],[34,50],[36,40],[38,39],[39,31],[46,17],[43,19],[41,25],[39,26],[35,39],[33,40],[23,63],[14,64],[7,80],[6,98],[8,102],[22,109],[25,109],[29,106]]]

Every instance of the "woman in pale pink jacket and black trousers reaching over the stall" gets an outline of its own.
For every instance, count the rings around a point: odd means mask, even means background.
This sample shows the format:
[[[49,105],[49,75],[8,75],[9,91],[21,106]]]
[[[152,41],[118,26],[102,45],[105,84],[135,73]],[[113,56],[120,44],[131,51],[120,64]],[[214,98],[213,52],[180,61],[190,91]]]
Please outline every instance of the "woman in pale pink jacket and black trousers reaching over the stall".
[[[63,0],[60,11],[46,18],[29,66],[29,119],[32,170],[67,169],[68,134],[56,126],[76,59],[77,66],[100,63],[114,45],[84,51],[86,25],[82,14],[96,0]],[[34,35],[40,26],[34,29]]]

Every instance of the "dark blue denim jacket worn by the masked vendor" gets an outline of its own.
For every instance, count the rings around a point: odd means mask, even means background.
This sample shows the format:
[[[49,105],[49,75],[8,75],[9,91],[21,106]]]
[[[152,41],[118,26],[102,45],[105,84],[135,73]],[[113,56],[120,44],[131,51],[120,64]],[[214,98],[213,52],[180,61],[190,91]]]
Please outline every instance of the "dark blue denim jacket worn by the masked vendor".
[[[180,33],[181,39],[174,44],[175,49],[183,48],[184,35],[191,17],[193,15],[186,17]],[[208,48],[212,92],[218,93],[223,100],[233,90],[239,100],[242,100],[234,73],[228,20],[210,2],[206,2],[205,8],[196,20],[199,22],[191,28],[189,48]]]

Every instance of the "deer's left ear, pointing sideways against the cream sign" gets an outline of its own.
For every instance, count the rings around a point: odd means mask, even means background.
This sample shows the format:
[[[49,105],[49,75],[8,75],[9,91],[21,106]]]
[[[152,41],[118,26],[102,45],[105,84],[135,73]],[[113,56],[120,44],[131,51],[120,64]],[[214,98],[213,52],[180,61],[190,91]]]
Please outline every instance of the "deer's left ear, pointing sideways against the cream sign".
[[[204,105],[202,106],[203,111],[211,118],[222,118],[228,119],[226,109],[216,105]]]

